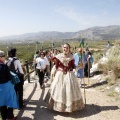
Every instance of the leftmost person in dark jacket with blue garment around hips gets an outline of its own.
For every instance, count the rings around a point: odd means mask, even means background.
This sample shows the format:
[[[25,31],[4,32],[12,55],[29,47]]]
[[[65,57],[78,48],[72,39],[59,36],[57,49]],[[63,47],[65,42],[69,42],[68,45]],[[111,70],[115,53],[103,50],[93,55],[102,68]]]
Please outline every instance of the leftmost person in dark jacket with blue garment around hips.
[[[2,120],[17,120],[13,108],[18,108],[18,100],[14,85],[11,83],[11,74],[8,66],[4,64],[5,53],[0,50],[0,112]]]

